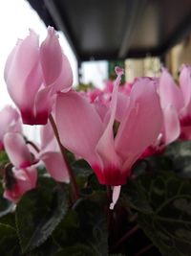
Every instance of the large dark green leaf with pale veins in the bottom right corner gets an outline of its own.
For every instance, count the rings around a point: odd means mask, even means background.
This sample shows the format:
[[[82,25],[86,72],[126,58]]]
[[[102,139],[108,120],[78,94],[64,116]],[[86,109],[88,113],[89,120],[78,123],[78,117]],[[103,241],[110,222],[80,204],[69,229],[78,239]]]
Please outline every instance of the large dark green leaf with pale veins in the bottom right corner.
[[[140,199],[143,197],[152,209],[151,212],[145,212],[137,207],[138,224],[145,234],[162,255],[189,256],[191,180],[173,173],[159,173],[141,175],[134,183]]]

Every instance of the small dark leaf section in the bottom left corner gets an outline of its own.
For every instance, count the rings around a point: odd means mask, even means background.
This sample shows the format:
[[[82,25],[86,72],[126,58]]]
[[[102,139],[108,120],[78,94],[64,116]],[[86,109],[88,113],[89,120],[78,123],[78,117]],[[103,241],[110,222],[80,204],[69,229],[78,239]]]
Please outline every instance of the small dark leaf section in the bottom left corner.
[[[19,243],[16,231],[10,225],[0,223],[0,255],[18,256]]]

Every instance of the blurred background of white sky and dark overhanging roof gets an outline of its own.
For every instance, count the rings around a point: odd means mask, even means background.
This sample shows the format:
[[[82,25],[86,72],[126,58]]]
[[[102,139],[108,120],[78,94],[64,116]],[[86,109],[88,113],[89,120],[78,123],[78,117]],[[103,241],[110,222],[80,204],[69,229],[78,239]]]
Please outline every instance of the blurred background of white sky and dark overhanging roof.
[[[124,81],[157,77],[162,66],[177,80],[180,64],[191,63],[190,0],[6,0],[0,22],[0,108],[13,105],[3,78],[5,61],[29,28],[40,40],[47,26],[58,31],[74,86],[102,88],[115,78],[116,65],[125,69]],[[38,128],[25,130],[37,139]]]

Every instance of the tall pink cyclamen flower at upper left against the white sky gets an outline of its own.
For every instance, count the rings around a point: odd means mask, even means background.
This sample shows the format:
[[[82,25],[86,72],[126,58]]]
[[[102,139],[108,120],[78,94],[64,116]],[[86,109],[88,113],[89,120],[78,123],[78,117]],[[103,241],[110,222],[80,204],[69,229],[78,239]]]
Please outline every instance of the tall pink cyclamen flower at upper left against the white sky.
[[[32,30],[17,41],[6,62],[5,81],[23,123],[45,125],[55,93],[69,91],[73,82],[71,65],[52,27],[40,47]]]

